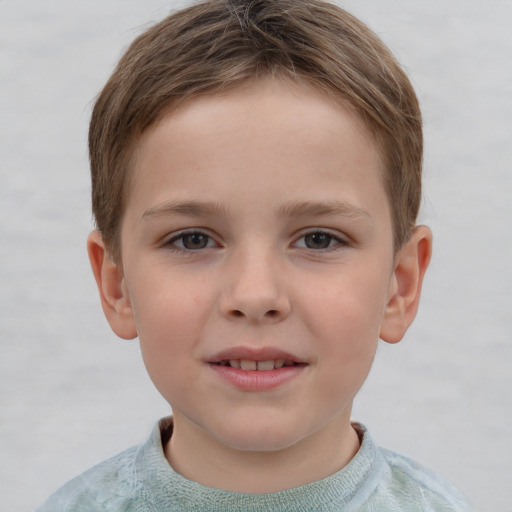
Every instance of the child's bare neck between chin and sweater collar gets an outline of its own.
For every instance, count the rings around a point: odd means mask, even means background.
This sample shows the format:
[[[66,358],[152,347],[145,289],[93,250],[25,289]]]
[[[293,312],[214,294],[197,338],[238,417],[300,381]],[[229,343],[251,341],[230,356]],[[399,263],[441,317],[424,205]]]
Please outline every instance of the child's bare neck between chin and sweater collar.
[[[350,421],[338,419],[290,447],[245,451],[226,446],[197,425],[175,416],[165,455],[174,470],[189,480],[226,491],[263,494],[336,473],[350,462],[359,445]]]

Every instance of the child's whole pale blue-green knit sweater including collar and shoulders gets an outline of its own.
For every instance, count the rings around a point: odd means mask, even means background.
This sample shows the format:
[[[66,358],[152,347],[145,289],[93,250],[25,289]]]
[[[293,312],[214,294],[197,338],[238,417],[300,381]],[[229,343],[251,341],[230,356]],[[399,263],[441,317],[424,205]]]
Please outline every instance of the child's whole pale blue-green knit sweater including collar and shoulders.
[[[162,438],[170,418],[138,447],[71,480],[36,512],[468,512],[448,482],[416,462],[378,448],[368,431],[355,457],[334,475],[271,494],[240,494],[187,480],[168,464]]]

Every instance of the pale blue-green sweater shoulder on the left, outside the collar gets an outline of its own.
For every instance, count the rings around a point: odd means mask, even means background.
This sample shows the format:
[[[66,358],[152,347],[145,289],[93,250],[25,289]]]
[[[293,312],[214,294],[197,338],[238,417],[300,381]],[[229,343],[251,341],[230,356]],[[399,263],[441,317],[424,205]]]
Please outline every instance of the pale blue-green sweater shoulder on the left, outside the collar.
[[[137,487],[134,468],[137,449],[130,448],[70,480],[36,512],[125,510]]]

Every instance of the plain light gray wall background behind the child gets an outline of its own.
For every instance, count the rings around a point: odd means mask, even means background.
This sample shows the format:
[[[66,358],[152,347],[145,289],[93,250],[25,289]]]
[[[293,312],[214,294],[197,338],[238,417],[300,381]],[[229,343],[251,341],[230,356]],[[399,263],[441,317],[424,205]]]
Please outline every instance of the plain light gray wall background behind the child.
[[[182,2],[181,2],[182,3]],[[347,0],[425,116],[435,257],[354,417],[482,510],[512,511],[512,2]],[[31,510],[169,408],[103,318],[85,252],[86,130],[120,52],[178,2],[0,0],[0,508]]]

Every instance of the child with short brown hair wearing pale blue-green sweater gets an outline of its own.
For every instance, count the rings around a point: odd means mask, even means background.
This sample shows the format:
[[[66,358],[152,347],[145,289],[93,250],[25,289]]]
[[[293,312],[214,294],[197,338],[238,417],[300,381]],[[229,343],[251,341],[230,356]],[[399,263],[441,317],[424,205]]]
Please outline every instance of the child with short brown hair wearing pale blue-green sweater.
[[[142,34],[90,126],[89,256],[173,417],[43,511],[463,511],[351,406],[418,307],[422,131],[383,43],[318,0]]]

